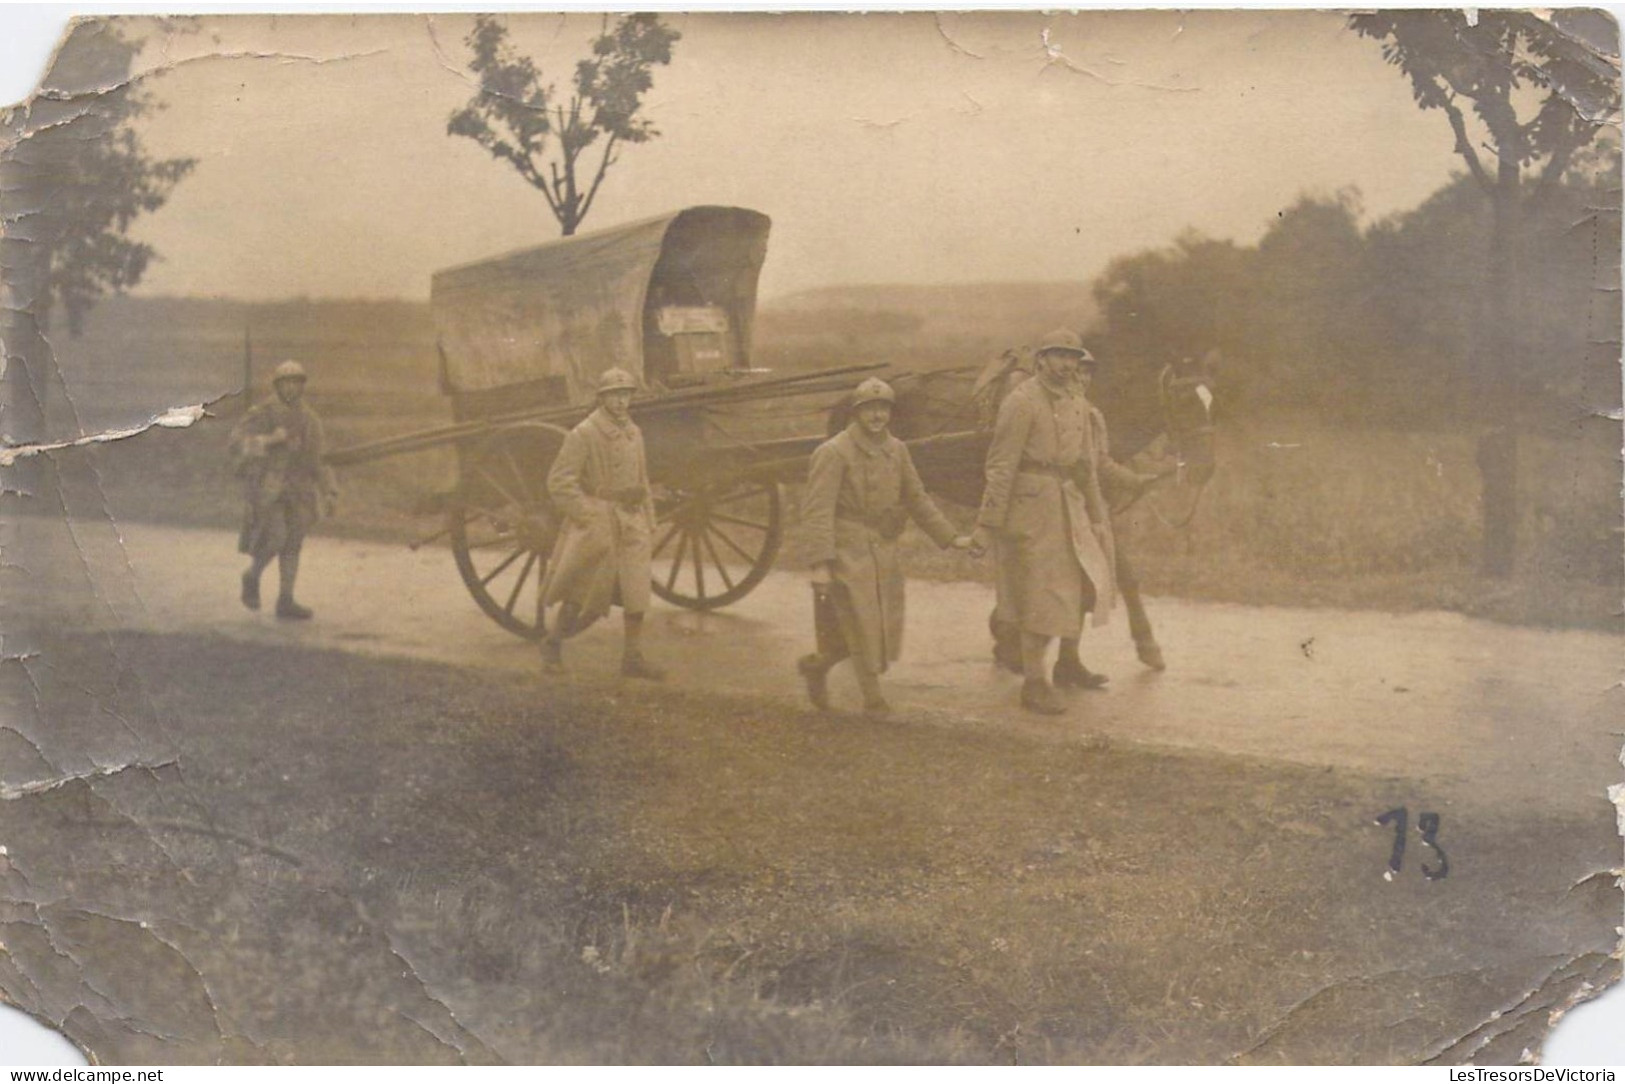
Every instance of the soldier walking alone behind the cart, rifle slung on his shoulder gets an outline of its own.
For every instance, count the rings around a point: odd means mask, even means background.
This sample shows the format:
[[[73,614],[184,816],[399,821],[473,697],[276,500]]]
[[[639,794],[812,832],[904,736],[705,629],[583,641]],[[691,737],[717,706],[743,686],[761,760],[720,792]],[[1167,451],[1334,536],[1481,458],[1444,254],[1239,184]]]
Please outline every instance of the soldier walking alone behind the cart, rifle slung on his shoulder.
[[[247,504],[237,536],[237,551],[250,557],[242,574],[242,605],[260,608],[260,574],[275,557],[276,616],[302,621],[310,609],[294,601],[299,551],[310,527],[332,514],[338,484],[322,463],[322,419],[304,405],[304,366],[281,362],[271,387],[276,398],[250,410],[231,431]]]

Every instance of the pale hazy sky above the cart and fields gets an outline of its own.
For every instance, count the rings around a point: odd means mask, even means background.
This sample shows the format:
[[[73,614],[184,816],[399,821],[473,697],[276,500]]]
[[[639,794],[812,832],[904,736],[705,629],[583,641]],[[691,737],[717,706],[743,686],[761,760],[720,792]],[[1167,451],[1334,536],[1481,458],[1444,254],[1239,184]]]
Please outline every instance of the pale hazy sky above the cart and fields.
[[[1303,192],[1414,206],[1454,167],[1332,13],[668,15],[682,41],[585,229],[765,211],[764,296],[1090,278],[1194,228],[1251,242]],[[512,15],[569,81],[587,15]],[[138,234],[140,293],[427,296],[440,267],[557,236],[541,193],[445,135],[468,15],[202,16],[148,33],[156,154],[197,171]]]

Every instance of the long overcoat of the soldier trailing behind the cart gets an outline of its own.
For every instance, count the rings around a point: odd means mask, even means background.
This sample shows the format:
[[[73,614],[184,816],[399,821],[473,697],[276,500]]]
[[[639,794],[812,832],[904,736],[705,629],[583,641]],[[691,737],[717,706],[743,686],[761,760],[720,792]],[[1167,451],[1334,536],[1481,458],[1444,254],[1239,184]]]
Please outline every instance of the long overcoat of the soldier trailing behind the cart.
[[[304,400],[260,403],[232,427],[231,455],[244,497],[239,553],[281,553],[322,518],[320,496],[338,491],[322,463],[323,445],[322,419]]]

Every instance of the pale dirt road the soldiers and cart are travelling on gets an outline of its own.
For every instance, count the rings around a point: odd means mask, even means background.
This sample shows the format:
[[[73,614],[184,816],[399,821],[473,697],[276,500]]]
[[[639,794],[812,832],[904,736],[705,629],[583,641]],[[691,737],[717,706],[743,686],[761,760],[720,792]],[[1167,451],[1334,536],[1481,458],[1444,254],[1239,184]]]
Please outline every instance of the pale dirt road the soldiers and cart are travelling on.
[[[34,520],[23,530],[60,527]],[[58,561],[55,575],[98,569],[102,601],[88,619],[107,627],[536,668],[530,644],[474,608],[442,549],[314,538],[301,595],[318,613],[301,624],[237,603],[242,562],[224,533],[120,523],[120,538],[98,536],[58,540],[57,553],[73,559]],[[1017,710],[1019,679],[991,666],[988,605],[982,585],[910,585],[905,660],[887,676],[902,712],[1038,741],[1107,738],[1355,767],[1424,778],[1440,796],[1472,790],[1547,808],[1597,809],[1620,778],[1620,640],[1607,634],[1446,613],[1152,600],[1168,671],[1134,660],[1118,613],[1086,639],[1090,666],[1112,674],[1110,691],[1079,694],[1069,715],[1050,720]],[[726,611],[656,603],[650,648],[679,687],[788,704],[801,696],[793,661],[808,650],[808,609],[804,579],[774,574]],[[616,626],[572,642],[572,678],[614,666]],[[855,704],[850,674],[837,671],[832,684],[838,702]]]

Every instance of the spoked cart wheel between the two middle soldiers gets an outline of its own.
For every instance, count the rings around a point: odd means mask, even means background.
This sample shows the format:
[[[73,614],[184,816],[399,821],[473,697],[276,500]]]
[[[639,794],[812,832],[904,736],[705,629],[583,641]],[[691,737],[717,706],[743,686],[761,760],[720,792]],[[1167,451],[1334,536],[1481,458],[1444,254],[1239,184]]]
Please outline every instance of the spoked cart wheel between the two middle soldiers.
[[[655,593],[674,606],[736,603],[774,567],[783,541],[778,486],[736,481],[656,494]]]

